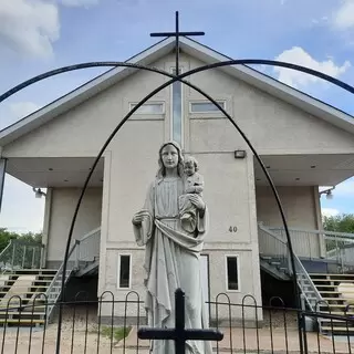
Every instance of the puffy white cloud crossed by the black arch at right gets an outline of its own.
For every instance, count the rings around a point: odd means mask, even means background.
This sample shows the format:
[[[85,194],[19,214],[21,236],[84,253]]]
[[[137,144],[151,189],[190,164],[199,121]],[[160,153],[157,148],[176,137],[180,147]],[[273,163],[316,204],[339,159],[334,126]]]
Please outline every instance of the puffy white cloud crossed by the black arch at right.
[[[292,49],[283,51],[275,60],[306,66],[333,77],[339,77],[351,66],[348,61],[345,61],[342,65],[336,65],[332,59],[322,62],[316,61],[300,46],[293,46]],[[274,72],[278,75],[278,80],[294,87],[306,86],[310,83],[320,81],[320,79],[313,75],[284,67],[274,67]]]

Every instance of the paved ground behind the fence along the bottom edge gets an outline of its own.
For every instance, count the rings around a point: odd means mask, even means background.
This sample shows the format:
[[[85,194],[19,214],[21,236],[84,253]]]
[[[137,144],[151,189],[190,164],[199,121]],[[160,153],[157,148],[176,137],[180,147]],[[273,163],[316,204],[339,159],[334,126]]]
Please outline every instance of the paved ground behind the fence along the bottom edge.
[[[221,329],[222,332],[222,329]],[[288,351],[291,353],[299,353],[299,337],[295,329],[290,329],[288,332]],[[258,339],[258,340],[257,340]],[[15,343],[18,341],[18,351],[15,352]],[[317,342],[320,341],[320,342]],[[74,345],[72,345],[72,342]],[[62,344],[61,352],[63,354],[79,354],[79,353],[111,353],[111,341],[106,337],[100,336],[100,343],[97,331],[94,325],[88,326],[88,332],[85,335],[85,327],[77,326],[75,330],[74,341],[72,341],[72,331],[69,325],[63,327],[62,331]],[[330,339],[324,336],[319,336],[314,333],[308,333],[308,346],[309,352],[319,353],[319,343],[321,353],[351,353],[347,341],[336,341],[334,344]],[[11,354],[39,354],[39,353],[55,353],[55,343],[56,343],[56,325],[50,325],[45,332],[44,346],[43,346],[43,331],[38,330],[33,331],[32,337],[30,341],[30,331],[20,330],[19,336],[17,340],[17,330],[8,329],[6,333],[6,341],[3,342],[3,332],[0,332],[0,353]],[[136,353],[136,330],[133,329],[129,336],[126,339],[126,350],[124,351],[123,342],[112,343],[112,353]],[[354,351],[354,339],[352,339],[352,347]],[[138,353],[147,354],[148,353],[148,342],[139,341]],[[3,352],[1,347],[3,345]],[[334,347],[333,347],[334,345]],[[229,330],[225,331],[225,339],[219,343],[219,352],[227,353],[232,351],[246,352],[246,353],[257,353],[258,347],[260,352],[269,353],[285,353],[287,352],[287,342],[285,333],[282,329],[274,329],[272,331],[272,341],[270,336],[269,329],[260,329],[257,331],[254,329],[244,330],[244,340],[242,329],[232,329],[231,336]],[[31,348],[29,351],[29,347]],[[86,351],[85,351],[86,348]],[[217,353],[217,347],[215,347],[215,353]]]

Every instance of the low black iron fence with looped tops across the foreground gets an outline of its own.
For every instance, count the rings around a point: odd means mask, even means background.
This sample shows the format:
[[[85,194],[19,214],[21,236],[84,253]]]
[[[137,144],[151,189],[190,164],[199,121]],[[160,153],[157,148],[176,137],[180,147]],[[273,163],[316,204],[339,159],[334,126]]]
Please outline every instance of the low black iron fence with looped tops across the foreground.
[[[60,353],[148,353],[149,341],[140,340],[145,327],[144,302],[136,292],[117,300],[105,292],[87,301],[84,292],[65,303],[49,303],[45,295],[33,301],[12,296],[0,308],[0,351],[11,353],[55,353],[58,314],[49,321],[48,310],[62,306]],[[283,306],[280,298],[269,305],[257,304],[248,295],[232,303],[219,294],[208,303],[210,329],[223,333],[212,342],[214,353],[352,353],[354,312],[320,303],[316,312]],[[299,323],[300,319],[300,323]],[[299,335],[300,334],[300,335]]]

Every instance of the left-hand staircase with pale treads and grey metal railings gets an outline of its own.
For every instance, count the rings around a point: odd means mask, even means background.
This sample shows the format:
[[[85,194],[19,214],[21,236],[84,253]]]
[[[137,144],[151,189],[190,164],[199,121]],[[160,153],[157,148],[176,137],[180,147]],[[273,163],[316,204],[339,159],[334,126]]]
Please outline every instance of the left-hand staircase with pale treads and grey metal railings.
[[[71,277],[97,271],[100,238],[101,228],[97,228],[75,240],[69,252],[65,283]],[[0,253],[0,325],[34,326],[49,323],[61,296],[64,263],[59,269],[41,269],[42,260],[33,256],[38,244],[32,247],[27,243],[25,248],[12,242]],[[28,256],[29,249],[32,258]]]

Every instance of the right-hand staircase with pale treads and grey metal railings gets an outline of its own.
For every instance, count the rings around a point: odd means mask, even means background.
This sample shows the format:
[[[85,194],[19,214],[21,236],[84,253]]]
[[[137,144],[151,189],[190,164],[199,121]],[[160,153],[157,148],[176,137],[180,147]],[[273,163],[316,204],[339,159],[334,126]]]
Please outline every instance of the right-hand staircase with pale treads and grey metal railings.
[[[258,226],[260,251],[260,266],[274,278],[288,280],[291,275],[290,257],[287,239],[280,232],[277,232],[262,223]],[[332,232],[333,233],[333,232]],[[333,241],[333,235],[329,239]],[[347,235],[346,235],[347,237]],[[343,236],[341,236],[343,238]],[[350,240],[351,241],[351,240]],[[345,239],[346,257],[353,247],[353,243]],[[339,240],[335,240],[339,243]],[[343,254],[343,247],[331,250],[335,258]],[[331,259],[331,258],[330,258]],[[354,260],[351,259],[351,262]],[[354,315],[354,274],[340,273],[311,273],[309,274],[301,260],[294,254],[295,272],[299,289],[301,291],[303,310],[321,312],[323,314],[335,315]],[[341,258],[339,270],[345,270],[347,263]],[[343,298],[339,290],[339,284],[353,284],[353,289],[346,289],[345,294],[348,299]],[[350,294],[350,295],[348,295]],[[320,332],[331,335],[354,335],[354,326],[343,320],[329,320],[319,317]]]

